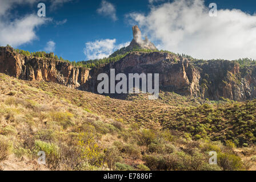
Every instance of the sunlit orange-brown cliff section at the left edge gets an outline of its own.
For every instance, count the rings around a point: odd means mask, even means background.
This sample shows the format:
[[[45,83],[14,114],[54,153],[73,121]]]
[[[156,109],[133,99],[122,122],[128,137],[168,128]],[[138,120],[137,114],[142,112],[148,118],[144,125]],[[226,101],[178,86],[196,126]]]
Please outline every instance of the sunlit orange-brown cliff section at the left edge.
[[[29,81],[52,81],[78,88],[84,84],[89,70],[47,58],[31,58],[14,52],[13,48],[0,48],[0,72]]]

